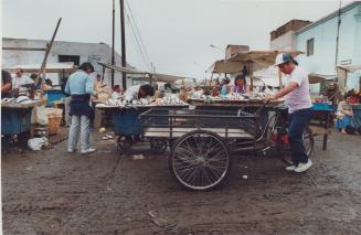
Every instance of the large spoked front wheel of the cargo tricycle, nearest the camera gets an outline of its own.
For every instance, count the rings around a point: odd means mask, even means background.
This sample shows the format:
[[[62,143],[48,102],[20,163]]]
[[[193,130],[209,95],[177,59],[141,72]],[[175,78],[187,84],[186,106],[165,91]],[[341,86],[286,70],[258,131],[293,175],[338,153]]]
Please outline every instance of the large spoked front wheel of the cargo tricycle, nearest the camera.
[[[177,140],[169,157],[169,170],[190,190],[210,190],[229,175],[231,157],[222,138],[211,131],[195,130]]]

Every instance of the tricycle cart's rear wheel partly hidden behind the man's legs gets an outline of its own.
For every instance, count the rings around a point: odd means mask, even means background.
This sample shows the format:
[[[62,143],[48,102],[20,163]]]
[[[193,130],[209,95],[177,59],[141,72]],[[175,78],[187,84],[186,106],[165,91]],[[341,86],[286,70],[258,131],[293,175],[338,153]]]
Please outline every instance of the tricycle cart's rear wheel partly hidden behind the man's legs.
[[[288,128],[286,128],[284,130],[284,132],[287,133],[287,130],[288,130]],[[314,147],[315,147],[315,139],[314,139],[312,131],[308,126],[306,126],[305,131],[304,131],[304,145],[305,145],[305,148],[306,148],[307,156],[311,157],[311,153],[312,153]],[[287,164],[287,165],[293,164],[293,159],[290,157],[290,146],[289,146],[289,143],[283,142],[283,151],[279,154],[279,157],[280,157],[280,160],[285,164]]]

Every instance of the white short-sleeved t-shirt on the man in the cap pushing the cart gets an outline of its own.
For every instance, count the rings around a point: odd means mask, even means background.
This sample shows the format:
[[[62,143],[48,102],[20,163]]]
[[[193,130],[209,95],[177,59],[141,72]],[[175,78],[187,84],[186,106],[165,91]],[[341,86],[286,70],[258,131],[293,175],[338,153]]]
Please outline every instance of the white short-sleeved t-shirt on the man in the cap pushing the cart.
[[[295,70],[285,76],[284,85],[288,86],[291,82],[297,83],[298,87],[285,95],[288,113],[291,114],[299,109],[312,107],[309,95],[308,73],[299,66],[295,66]]]

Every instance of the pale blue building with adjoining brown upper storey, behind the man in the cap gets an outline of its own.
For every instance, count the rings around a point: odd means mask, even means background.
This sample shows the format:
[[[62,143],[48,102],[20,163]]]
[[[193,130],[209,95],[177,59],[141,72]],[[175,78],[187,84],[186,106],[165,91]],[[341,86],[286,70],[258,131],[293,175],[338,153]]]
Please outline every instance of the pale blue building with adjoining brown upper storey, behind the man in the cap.
[[[304,52],[305,54],[299,55],[297,60],[311,73],[336,74],[336,65],[361,64],[361,1],[344,6],[340,11],[335,11],[316,22],[305,21],[306,25],[300,29],[287,26],[293,22],[282,26],[288,30],[278,31],[280,29],[278,28],[270,33],[270,50]]]

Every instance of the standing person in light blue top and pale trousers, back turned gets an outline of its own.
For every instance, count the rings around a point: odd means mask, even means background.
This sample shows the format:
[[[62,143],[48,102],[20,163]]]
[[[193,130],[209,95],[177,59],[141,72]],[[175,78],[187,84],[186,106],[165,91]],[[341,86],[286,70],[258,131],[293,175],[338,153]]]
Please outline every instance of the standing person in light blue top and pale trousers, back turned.
[[[89,125],[94,118],[94,110],[91,106],[91,96],[94,94],[94,81],[89,76],[94,72],[91,63],[85,62],[78,71],[73,73],[65,85],[65,93],[71,95],[72,124],[68,133],[67,151],[75,152],[78,136],[81,135],[81,152],[87,154],[95,152],[96,149],[89,146]]]

